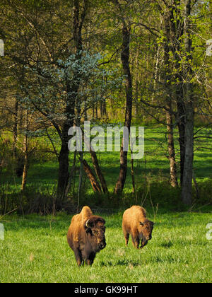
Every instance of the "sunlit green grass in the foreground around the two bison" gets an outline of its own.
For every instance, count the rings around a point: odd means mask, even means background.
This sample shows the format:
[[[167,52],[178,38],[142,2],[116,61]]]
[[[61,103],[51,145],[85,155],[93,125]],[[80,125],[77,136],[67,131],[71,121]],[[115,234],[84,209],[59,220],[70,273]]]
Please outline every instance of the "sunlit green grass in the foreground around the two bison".
[[[204,211],[204,212],[203,212]],[[0,240],[0,282],[211,282],[212,240],[206,225],[211,208],[196,212],[159,209],[153,238],[143,250],[125,247],[122,211],[100,214],[106,220],[107,247],[92,267],[77,267],[66,243],[71,216],[5,216]],[[3,221],[4,220],[4,221]]]

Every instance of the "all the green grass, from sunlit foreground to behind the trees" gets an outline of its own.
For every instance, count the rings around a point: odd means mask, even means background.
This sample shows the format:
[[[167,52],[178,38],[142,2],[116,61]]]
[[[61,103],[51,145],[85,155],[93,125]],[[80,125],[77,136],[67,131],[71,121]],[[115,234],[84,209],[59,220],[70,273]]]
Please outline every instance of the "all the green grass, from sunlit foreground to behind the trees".
[[[4,240],[0,240],[0,282],[211,282],[212,240],[206,239],[206,226],[212,223],[212,207],[209,205],[212,197],[211,148],[208,139],[199,139],[195,143],[194,173],[200,201],[194,187],[194,204],[189,208],[179,201],[180,189],[169,185],[167,140],[163,127],[146,127],[145,156],[134,161],[136,194],[131,192],[129,169],[119,204],[111,194],[119,173],[119,153],[98,153],[110,195],[93,194],[85,176],[80,197],[80,206],[89,205],[95,214],[106,220],[107,247],[98,253],[92,267],[77,267],[73,252],[66,243],[73,214],[63,211],[53,216],[48,211],[45,215],[43,211],[38,211],[42,215],[24,211],[29,200],[39,204],[37,199],[43,201],[46,195],[52,199],[57,187],[57,160],[51,157],[30,162],[24,197],[20,195],[21,178],[16,177],[11,168],[3,170],[0,197],[1,202],[5,202],[5,209],[1,209],[0,223],[4,224],[5,232]],[[179,169],[178,146],[176,153]],[[89,154],[84,156],[91,163]],[[72,158],[70,154],[70,166]],[[79,163],[69,197],[73,206],[77,203],[78,168]],[[4,216],[8,205],[15,209],[19,202],[23,211]],[[126,247],[122,234],[122,214],[133,204],[143,204],[148,218],[155,221],[153,238],[143,250],[134,249],[131,238]]]

